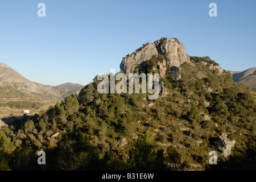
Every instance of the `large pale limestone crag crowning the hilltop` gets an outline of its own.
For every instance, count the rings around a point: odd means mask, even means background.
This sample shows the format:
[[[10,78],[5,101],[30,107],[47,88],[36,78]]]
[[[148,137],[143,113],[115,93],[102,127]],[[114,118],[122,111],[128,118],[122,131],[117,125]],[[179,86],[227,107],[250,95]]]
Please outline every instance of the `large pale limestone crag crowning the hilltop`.
[[[185,46],[176,39],[162,38],[150,44],[147,43],[137,51],[123,57],[120,68],[127,76],[134,73],[143,62],[150,60],[153,55],[163,55],[165,60],[158,63],[159,75],[165,76],[169,72],[175,79],[181,78],[181,64],[190,61],[185,51]]]

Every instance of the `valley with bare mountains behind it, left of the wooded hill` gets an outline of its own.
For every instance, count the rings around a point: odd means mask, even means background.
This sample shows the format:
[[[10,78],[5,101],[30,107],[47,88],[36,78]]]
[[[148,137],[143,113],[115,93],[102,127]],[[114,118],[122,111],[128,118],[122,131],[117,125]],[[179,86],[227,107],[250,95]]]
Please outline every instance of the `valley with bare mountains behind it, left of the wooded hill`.
[[[49,106],[54,106],[70,94],[78,94],[83,87],[73,83],[49,86],[31,82],[8,65],[0,63],[0,119],[7,125],[26,121],[28,117],[49,109]],[[21,108],[9,106],[17,102],[27,102],[29,105],[18,106]],[[30,113],[24,116],[24,110]]]

